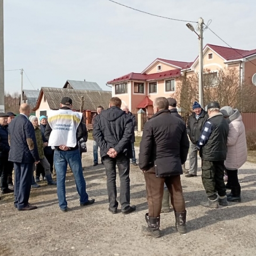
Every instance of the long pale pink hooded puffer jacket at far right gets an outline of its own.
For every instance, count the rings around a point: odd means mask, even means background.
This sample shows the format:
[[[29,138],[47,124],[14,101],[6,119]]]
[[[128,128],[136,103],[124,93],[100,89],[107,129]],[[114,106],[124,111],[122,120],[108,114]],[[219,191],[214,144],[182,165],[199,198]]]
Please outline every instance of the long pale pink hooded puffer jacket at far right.
[[[228,118],[228,152],[225,166],[228,170],[239,169],[247,160],[247,145],[245,137],[245,128],[242,116],[237,109],[235,113]]]

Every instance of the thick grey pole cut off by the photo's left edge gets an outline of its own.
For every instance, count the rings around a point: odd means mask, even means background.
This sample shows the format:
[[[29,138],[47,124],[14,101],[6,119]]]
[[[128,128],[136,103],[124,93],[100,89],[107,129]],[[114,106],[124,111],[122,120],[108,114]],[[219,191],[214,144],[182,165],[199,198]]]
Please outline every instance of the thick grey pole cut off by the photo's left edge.
[[[4,0],[0,0],[0,112],[4,112]]]

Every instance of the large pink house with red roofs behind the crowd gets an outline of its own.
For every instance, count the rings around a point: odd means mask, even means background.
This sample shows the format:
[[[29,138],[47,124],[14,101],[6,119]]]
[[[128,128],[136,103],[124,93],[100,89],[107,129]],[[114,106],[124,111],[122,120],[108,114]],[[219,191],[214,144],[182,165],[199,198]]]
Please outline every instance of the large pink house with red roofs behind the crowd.
[[[210,70],[208,74],[212,81],[218,76],[218,70],[235,67],[241,82],[256,85],[256,49],[249,51],[207,44],[203,49],[203,59],[204,69]],[[198,57],[193,62],[157,58],[141,73],[129,73],[107,84],[112,86],[113,97],[119,97],[132,112],[142,108],[152,113],[155,98],[174,97],[183,73],[186,71],[189,76],[198,73],[198,69]]]

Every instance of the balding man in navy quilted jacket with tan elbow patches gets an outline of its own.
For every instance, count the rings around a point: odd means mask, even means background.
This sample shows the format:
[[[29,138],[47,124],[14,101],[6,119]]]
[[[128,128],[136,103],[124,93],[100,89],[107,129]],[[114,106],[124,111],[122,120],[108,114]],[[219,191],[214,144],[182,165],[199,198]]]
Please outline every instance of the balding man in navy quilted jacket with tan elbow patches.
[[[14,162],[14,206],[19,211],[29,211],[37,209],[37,206],[29,205],[28,200],[33,164],[39,163],[39,154],[35,129],[28,120],[30,107],[24,103],[19,110],[20,115],[9,125],[9,161]]]

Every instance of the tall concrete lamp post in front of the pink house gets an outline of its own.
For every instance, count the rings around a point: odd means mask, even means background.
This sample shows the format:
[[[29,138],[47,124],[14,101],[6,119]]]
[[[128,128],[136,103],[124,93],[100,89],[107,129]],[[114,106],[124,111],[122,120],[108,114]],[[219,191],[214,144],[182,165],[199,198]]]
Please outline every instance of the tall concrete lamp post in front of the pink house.
[[[199,104],[204,108],[204,90],[203,90],[203,18],[198,20],[198,30],[199,34],[195,31],[195,28],[187,23],[186,26],[193,31],[198,36],[199,41],[199,53],[198,53],[198,62],[199,62],[199,84],[198,84],[198,96]]]

